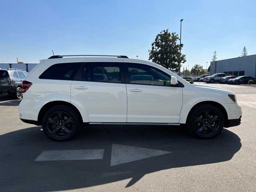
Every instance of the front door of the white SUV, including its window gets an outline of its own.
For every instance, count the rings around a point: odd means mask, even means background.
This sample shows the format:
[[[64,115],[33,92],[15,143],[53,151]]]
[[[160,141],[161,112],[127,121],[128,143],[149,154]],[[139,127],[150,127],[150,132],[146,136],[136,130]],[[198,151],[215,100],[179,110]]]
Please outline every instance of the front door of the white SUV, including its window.
[[[182,88],[170,86],[170,76],[149,65],[126,63],[127,122],[178,123]]]

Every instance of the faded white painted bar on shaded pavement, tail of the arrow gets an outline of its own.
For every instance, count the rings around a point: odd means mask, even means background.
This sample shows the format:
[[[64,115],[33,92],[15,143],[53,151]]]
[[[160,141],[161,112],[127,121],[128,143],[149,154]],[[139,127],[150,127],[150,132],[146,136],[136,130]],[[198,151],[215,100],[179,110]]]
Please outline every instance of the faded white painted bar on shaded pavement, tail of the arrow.
[[[35,161],[103,159],[104,149],[43,151]]]

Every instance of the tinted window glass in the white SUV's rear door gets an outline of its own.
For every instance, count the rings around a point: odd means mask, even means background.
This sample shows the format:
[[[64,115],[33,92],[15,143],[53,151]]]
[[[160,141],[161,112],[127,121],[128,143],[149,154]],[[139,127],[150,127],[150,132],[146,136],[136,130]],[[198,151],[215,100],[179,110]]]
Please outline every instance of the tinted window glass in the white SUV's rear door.
[[[120,67],[112,63],[88,63],[82,70],[82,79],[84,81],[94,82],[121,82]]]

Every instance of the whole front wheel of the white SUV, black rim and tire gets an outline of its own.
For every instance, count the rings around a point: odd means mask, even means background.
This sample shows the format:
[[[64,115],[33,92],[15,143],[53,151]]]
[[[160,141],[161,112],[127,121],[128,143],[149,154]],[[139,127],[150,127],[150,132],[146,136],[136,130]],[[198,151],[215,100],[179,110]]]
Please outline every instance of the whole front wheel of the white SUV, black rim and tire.
[[[208,118],[205,118],[207,111]],[[216,106],[198,105],[189,113],[187,127],[193,136],[204,139],[213,138],[222,132],[224,116]]]

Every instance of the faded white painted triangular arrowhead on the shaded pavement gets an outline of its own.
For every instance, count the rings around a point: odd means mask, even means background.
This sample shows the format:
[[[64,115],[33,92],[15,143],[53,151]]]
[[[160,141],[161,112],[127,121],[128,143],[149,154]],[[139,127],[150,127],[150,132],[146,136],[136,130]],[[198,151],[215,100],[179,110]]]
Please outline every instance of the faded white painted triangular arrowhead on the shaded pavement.
[[[150,158],[163,154],[171,153],[170,151],[161,151],[156,149],[147,149],[141,147],[112,144],[110,166],[132,162],[140,159]]]

